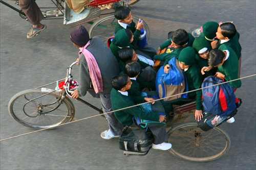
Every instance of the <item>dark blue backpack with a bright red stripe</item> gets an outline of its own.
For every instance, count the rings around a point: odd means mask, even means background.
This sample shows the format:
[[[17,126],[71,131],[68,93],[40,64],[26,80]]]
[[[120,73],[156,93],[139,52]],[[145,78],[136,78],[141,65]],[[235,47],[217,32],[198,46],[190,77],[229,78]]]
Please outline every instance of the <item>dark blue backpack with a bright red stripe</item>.
[[[236,95],[234,95],[233,87],[230,84],[220,83],[223,81],[215,76],[204,79],[202,83],[203,107],[212,114],[226,116],[236,109]],[[204,88],[207,86],[211,87]]]

